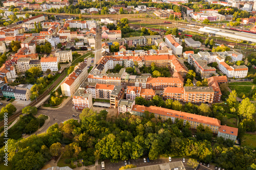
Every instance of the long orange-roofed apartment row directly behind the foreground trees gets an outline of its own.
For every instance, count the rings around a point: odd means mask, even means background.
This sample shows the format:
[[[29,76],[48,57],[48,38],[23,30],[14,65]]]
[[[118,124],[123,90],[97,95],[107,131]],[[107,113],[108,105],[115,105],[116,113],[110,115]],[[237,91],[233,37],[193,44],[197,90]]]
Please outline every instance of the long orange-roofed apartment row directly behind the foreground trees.
[[[145,107],[141,105],[134,105],[132,109],[132,114],[142,116],[144,115],[145,111],[153,113],[156,118],[160,116],[163,121],[170,118],[170,120],[172,120],[174,124],[175,119],[182,119],[183,125],[185,126],[186,122],[188,122],[191,129],[197,129],[199,125],[208,127],[213,133],[218,134],[218,137],[225,136],[225,139],[231,139],[233,141],[236,141],[238,135],[238,128],[227,128],[226,126],[222,126],[220,120],[218,120],[217,118],[206,117],[172,109],[165,109],[156,106]]]

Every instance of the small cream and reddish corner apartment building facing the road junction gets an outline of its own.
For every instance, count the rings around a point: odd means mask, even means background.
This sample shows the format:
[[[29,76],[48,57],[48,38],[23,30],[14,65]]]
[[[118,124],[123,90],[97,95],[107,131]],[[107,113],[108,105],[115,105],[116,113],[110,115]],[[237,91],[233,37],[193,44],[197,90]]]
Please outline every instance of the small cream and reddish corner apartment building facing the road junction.
[[[85,108],[91,108],[93,106],[93,98],[91,93],[84,93],[84,91],[78,90],[72,97],[73,107],[76,110],[83,110]]]

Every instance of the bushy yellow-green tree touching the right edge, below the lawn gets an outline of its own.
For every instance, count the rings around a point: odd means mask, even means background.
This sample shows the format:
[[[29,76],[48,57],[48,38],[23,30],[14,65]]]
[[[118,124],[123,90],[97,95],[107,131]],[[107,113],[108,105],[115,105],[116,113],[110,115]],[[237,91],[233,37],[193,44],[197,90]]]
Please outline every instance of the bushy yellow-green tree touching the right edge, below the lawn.
[[[238,106],[238,114],[244,118],[252,119],[255,113],[255,106],[250,102],[249,98],[245,98]]]

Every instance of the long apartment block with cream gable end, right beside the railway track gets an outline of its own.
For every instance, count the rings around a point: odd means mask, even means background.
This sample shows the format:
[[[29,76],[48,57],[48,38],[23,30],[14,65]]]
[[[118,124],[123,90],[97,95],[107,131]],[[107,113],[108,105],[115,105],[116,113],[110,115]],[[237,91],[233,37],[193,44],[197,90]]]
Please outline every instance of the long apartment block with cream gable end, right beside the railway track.
[[[62,94],[72,96],[84,79],[86,79],[87,75],[87,63],[81,62],[75,66],[74,71],[60,85]]]

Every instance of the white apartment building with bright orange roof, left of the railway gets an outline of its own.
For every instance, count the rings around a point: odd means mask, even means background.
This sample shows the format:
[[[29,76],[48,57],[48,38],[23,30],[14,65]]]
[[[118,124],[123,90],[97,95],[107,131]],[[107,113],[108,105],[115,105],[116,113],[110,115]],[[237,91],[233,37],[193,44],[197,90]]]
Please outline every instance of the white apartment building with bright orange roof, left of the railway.
[[[58,71],[58,57],[42,57],[41,58],[41,68],[42,71],[50,69],[51,71]]]

